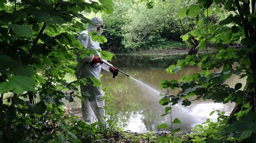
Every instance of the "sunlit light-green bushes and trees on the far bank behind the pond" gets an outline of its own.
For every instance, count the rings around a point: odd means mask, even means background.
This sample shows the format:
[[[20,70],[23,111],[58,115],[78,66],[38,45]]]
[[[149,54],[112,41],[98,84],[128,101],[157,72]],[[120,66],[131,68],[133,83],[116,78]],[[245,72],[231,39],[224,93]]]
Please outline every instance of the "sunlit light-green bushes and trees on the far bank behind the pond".
[[[199,40],[186,33],[204,23],[206,16],[204,13],[197,17],[177,16],[180,9],[195,2],[116,1],[115,11],[111,15],[103,15],[107,28],[104,35],[111,39],[104,46],[112,51],[191,47],[191,54],[197,53]],[[223,16],[223,13],[217,13],[211,15],[210,19],[216,23]]]

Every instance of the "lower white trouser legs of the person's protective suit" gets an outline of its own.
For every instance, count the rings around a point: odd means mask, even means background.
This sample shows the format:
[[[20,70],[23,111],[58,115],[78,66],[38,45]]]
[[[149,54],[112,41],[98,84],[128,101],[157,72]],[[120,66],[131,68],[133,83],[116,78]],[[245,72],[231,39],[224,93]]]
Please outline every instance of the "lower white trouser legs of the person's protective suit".
[[[96,101],[89,102],[85,99],[85,102],[82,101],[82,116],[83,120],[89,121],[89,124],[92,121],[92,111],[95,113],[98,121],[102,121],[105,125],[106,121],[104,119],[105,110],[104,110],[104,100],[100,99],[100,97],[96,97]]]

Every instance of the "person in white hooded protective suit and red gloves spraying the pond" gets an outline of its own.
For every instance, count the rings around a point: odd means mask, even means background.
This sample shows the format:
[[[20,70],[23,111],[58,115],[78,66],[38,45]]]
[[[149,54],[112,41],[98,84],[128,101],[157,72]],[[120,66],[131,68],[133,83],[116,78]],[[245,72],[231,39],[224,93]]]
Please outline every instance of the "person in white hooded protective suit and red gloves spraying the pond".
[[[105,117],[105,110],[104,110],[104,100],[102,97],[104,96],[104,92],[100,87],[93,86],[93,82],[89,76],[93,76],[99,79],[100,71],[103,68],[106,71],[111,71],[113,77],[117,76],[118,69],[114,69],[110,66],[107,66],[102,61],[108,63],[106,60],[100,58],[100,53],[98,50],[101,51],[99,47],[99,42],[93,41],[91,37],[88,35],[92,31],[97,31],[99,34],[103,33],[103,21],[99,17],[93,17],[90,23],[86,27],[86,31],[80,33],[79,37],[77,38],[86,49],[92,49],[97,53],[97,56],[90,55],[85,56],[84,59],[81,59],[79,55],[77,55],[77,68],[76,68],[76,75],[79,78],[85,78],[89,83],[86,85],[80,84],[81,94],[82,97],[85,98],[85,101],[82,101],[82,116],[83,120],[89,121],[91,123],[92,119],[92,111],[95,113],[97,120],[102,121],[103,124],[106,124],[104,119]],[[101,65],[102,64],[102,65]]]

